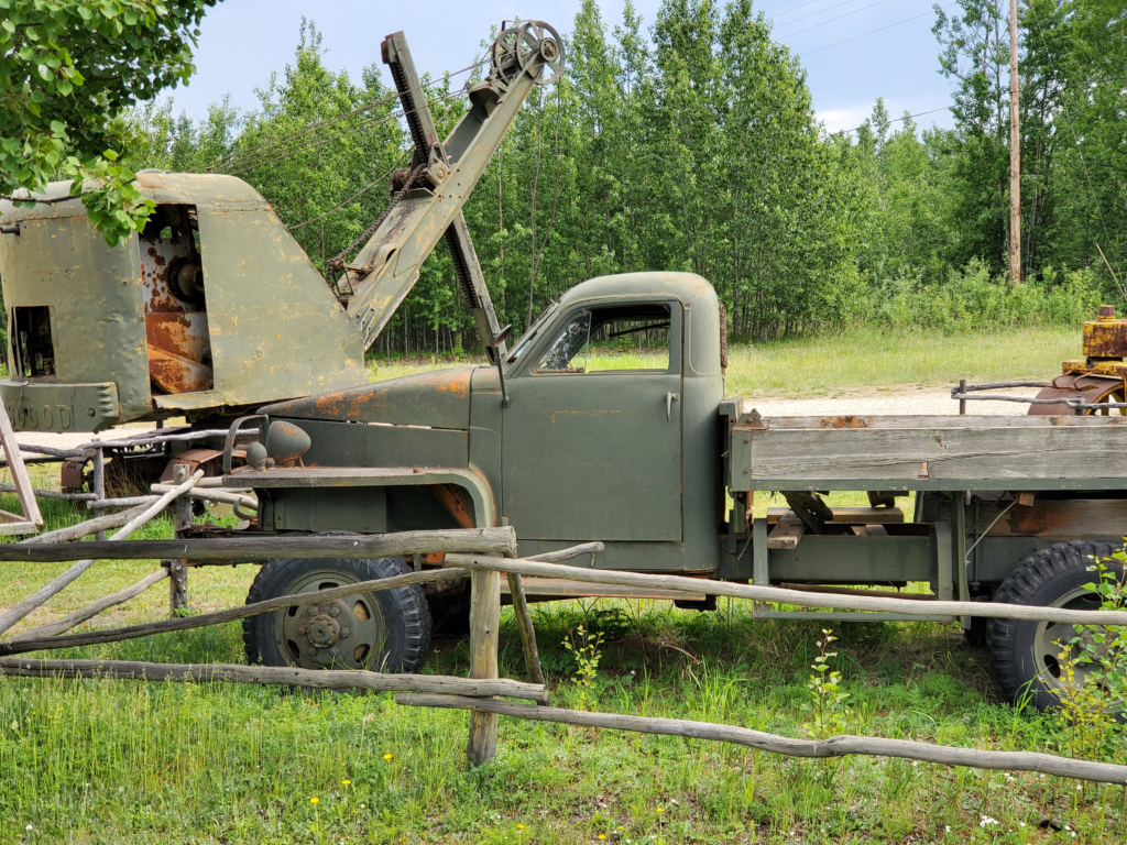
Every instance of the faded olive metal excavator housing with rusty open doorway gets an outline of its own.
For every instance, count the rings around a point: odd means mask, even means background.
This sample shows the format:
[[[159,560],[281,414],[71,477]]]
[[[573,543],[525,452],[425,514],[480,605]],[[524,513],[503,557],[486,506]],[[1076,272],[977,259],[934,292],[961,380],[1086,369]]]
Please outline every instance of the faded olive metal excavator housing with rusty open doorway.
[[[88,403],[83,411],[95,409],[95,417],[87,421],[76,412],[73,420],[82,430],[101,430],[366,381],[357,328],[257,192],[227,176],[145,172],[139,180],[159,207],[194,212],[198,251],[175,226],[171,234],[150,231],[144,242],[134,235],[110,249],[78,201],[30,208],[0,203],[3,221],[20,225],[18,235],[0,237],[6,303],[52,313],[54,374],[33,379],[28,395],[42,384],[112,383],[119,407],[109,419]],[[45,194],[65,197],[69,186],[53,183]],[[202,267],[185,268],[193,255],[202,257]],[[176,266],[184,278],[206,286],[206,302],[181,295],[184,279],[169,277]],[[208,380],[212,358],[216,368]],[[11,407],[11,391],[0,392]],[[33,427],[64,430],[44,428],[42,402],[34,406],[41,424]],[[30,415],[14,412],[17,427],[20,416],[30,422]],[[52,417],[57,424],[57,413]]]

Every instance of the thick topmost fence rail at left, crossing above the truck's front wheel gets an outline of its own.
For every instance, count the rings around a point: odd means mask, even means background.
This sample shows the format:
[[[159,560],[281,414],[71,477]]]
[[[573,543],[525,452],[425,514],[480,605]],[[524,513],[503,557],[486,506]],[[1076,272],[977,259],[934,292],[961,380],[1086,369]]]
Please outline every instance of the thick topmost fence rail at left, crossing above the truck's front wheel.
[[[353,536],[261,536],[210,540],[107,540],[81,543],[0,543],[0,561],[54,563],[80,557],[114,560],[261,562],[268,558],[391,558],[423,552],[515,552],[511,527],[403,531]]]

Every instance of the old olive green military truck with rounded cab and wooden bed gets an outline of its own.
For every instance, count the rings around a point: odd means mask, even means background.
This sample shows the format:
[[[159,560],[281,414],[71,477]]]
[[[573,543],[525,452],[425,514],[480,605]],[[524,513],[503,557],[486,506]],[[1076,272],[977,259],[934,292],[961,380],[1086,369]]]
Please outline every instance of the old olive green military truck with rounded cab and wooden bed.
[[[1093,606],[1083,587],[1093,579],[1092,555],[1110,554],[1127,534],[1127,419],[1075,416],[1070,407],[1056,416],[764,418],[725,399],[722,320],[700,276],[595,278],[549,306],[496,365],[261,408],[263,439],[278,462],[270,465],[263,451],[227,483],[254,487],[258,528],[268,532],[511,524],[522,557],[602,541],[591,561],[601,568]],[[648,338],[641,352],[606,354],[610,341],[638,335]],[[299,450],[296,429],[308,435]],[[829,508],[819,491],[833,490],[868,491],[869,505]],[[753,496],[771,491],[781,493],[780,507],[753,518]],[[894,502],[913,491],[905,518]],[[274,561],[251,597],[316,593],[435,563]],[[598,595],[589,585],[525,584],[533,601]],[[355,642],[350,649],[332,643],[331,658],[300,615],[282,612],[247,622],[248,652],[307,667],[367,665],[379,652],[388,665],[415,668],[432,614],[441,622],[465,601],[449,582],[425,589],[372,594],[344,608],[344,628],[366,625],[370,634],[341,643]],[[703,596],[681,604],[712,607]],[[966,622],[969,637],[988,641],[1010,694],[1032,683],[1039,704],[1055,700],[1054,640],[1067,632]]]

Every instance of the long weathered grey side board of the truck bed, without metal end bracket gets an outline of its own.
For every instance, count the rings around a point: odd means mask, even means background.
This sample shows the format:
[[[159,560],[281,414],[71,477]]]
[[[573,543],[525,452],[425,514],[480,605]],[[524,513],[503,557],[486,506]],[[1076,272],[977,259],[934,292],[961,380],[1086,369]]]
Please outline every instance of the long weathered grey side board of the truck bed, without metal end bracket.
[[[1127,429],[1119,427],[769,429],[752,432],[748,444],[735,439],[745,483],[1127,477]]]

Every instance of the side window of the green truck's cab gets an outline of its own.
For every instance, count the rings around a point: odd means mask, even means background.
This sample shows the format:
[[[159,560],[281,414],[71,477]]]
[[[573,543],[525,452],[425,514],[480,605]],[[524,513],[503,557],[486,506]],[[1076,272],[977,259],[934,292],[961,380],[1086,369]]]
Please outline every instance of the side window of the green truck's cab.
[[[568,321],[536,365],[539,373],[664,372],[669,368],[669,306],[614,305]]]

